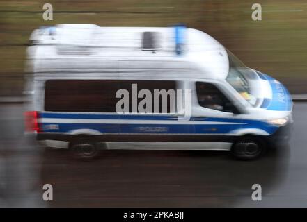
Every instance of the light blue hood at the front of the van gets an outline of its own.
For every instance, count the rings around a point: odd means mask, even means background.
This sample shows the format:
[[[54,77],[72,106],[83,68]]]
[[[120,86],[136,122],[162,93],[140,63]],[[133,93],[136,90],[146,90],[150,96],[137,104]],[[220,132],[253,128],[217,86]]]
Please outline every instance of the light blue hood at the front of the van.
[[[269,90],[271,91],[271,94],[263,99],[260,108],[276,111],[292,110],[292,97],[288,92],[288,89],[275,78],[272,78],[267,74],[263,74],[260,71],[257,71],[257,73],[262,80],[265,80],[269,83],[264,84],[264,86],[269,86]]]

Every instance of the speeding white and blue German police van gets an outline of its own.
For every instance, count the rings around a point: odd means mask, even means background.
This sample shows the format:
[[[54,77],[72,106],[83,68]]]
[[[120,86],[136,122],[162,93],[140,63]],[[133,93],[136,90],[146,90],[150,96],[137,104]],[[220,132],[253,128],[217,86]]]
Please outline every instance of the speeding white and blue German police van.
[[[251,160],[290,138],[288,90],[202,31],[61,24],[38,28],[30,42],[26,130],[43,146],[80,158],[121,148],[223,150]],[[171,99],[155,112],[133,108],[142,90],[178,89],[190,96],[183,112]],[[119,90],[134,94],[123,112]]]

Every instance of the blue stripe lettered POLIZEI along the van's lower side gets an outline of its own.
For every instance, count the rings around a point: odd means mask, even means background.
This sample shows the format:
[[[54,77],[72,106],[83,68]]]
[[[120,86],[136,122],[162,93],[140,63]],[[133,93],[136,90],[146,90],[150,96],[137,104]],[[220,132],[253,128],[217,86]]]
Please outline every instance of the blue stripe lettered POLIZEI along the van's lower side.
[[[77,129],[97,130],[100,133],[192,133],[192,134],[226,134],[239,128],[258,128],[267,133],[274,133],[278,127],[265,121],[249,119],[230,119],[217,117],[191,117],[191,121],[212,121],[228,124],[187,124],[180,123],[175,116],[163,115],[136,115],[136,114],[69,114],[41,112],[40,118],[55,119],[54,123],[41,123],[42,132],[68,133]],[[157,124],[129,124],[129,123],[57,123],[56,119],[131,119],[131,120],[157,120]],[[164,124],[161,120],[173,120],[176,124]],[[231,124],[234,123],[234,124]],[[237,124],[242,123],[242,124]],[[52,125],[57,127],[52,128]]]

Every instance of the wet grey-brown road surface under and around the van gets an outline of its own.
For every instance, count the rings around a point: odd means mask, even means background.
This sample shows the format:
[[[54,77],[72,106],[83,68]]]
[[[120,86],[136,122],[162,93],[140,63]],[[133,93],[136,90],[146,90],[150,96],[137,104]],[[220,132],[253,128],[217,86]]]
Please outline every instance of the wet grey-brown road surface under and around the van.
[[[260,160],[224,151],[106,151],[87,162],[24,137],[22,105],[0,105],[0,207],[307,207],[307,103],[290,144]],[[42,186],[53,186],[52,201]],[[251,200],[253,184],[262,200]]]

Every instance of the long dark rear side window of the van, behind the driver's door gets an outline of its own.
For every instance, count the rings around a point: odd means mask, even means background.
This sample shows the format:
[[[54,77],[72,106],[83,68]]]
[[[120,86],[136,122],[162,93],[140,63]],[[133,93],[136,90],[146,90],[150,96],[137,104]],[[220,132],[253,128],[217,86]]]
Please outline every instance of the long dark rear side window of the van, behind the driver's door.
[[[116,112],[116,98],[119,89],[129,92],[129,110],[132,112],[132,84],[137,92],[148,89],[152,95],[155,89],[174,89],[175,81],[161,80],[47,80],[45,82],[45,110],[54,112]],[[137,103],[143,98],[138,98]],[[173,102],[168,98],[167,112]],[[152,99],[152,112],[154,112]],[[161,103],[161,100],[160,100]],[[162,112],[160,105],[159,112]]]

